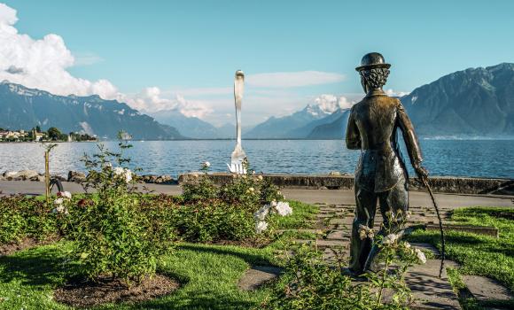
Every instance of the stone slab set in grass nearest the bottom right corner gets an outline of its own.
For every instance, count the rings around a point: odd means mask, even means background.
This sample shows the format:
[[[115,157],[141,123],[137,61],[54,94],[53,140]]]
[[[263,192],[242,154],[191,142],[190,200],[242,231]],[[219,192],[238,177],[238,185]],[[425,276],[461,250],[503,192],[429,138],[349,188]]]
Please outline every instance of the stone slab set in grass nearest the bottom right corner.
[[[473,294],[473,297],[479,301],[509,300],[514,298],[507,288],[493,279],[479,275],[462,275],[461,277],[468,290]]]

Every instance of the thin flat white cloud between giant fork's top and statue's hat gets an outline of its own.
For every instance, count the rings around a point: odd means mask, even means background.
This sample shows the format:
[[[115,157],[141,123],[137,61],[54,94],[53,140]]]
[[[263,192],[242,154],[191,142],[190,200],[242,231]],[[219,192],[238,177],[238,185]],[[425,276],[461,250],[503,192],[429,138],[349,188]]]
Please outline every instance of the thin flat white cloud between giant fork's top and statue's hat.
[[[249,86],[266,88],[293,88],[343,81],[345,75],[321,71],[276,72],[249,74],[245,80]]]

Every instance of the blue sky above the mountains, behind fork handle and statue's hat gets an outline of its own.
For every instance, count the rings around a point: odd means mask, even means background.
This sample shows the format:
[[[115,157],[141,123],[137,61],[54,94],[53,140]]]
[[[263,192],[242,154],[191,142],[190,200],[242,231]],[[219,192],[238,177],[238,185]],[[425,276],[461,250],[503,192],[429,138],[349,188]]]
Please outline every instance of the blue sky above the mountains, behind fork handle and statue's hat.
[[[468,67],[514,62],[513,1],[4,3],[16,10],[11,27],[19,35],[62,38],[74,62],[58,66],[73,77],[105,79],[117,98],[149,112],[176,108],[218,125],[233,121],[238,69],[248,77],[244,120],[253,124],[323,94],[358,100],[354,67],[369,51],[392,64],[385,88],[394,92]],[[45,88],[44,80],[27,82]],[[56,87],[47,89],[66,92]]]

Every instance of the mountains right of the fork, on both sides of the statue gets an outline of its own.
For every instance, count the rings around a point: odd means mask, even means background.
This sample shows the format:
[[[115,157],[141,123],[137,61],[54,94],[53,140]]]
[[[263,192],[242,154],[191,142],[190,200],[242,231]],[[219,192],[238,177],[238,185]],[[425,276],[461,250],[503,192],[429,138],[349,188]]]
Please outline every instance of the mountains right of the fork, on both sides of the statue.
[[[514,64],[502,63],[448,74],[414,89],[400,100],[419,136],[514,136]],[[280,119],[271,118],[258,125],[256,128],[260,130],[253,131],[255,134],[251,137],[345,137],[349,109],[338,109],[311,120],[306,114],[308,108]],[[278,134],[281,130],[284,133]]]

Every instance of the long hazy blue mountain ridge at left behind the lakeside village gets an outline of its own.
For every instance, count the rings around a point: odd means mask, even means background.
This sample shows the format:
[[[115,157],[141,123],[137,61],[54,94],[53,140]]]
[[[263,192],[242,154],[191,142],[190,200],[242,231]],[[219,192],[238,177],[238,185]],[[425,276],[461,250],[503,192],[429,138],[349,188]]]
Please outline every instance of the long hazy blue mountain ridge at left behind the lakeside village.
[[[0,127],[62,132],[82,132],[100,138],[116,138],[119,131],[134,139],[167,140],[183,136],[176,128],[162,125],[127,104],[89,97],[57,96],[39,89],[3,81],[0,83]]]

